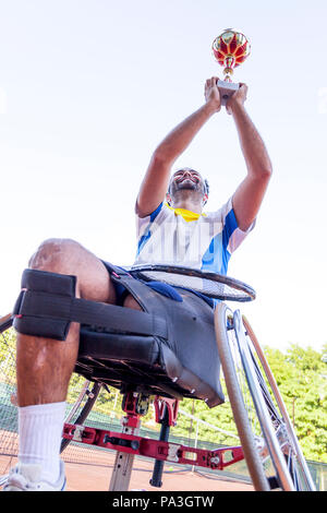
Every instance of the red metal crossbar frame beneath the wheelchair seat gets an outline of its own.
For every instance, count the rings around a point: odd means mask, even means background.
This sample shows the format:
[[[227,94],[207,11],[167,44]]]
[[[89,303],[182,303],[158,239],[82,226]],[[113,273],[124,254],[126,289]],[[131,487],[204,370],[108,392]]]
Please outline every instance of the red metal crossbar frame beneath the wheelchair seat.
[[[170,427],[177,423],[179,399],[156,396],[154,399],[156,422],[161,425],[159,440],[138,437],[141,418],[146,415],[148,404],[148,396],[135,392],[124,394],[122,409],[126,415],[122,418],[122,432],[64,423],[64,440],[118,451],[109,490],[129,490],[136,455],[155,460],[153,477],[149,481],[154,487],[162,486],[166,462],[223,470],[244,458],[241,446],[209,451],[169,442]]]

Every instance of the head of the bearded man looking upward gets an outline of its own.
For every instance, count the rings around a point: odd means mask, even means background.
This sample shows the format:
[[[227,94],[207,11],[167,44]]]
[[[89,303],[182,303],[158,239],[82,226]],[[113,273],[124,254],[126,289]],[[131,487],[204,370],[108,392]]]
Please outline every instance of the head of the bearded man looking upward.
[[[198,171],[184,167],[175,171],[169,182],[167,202],[178,208],[202,211],[208,200],[209,186]]]

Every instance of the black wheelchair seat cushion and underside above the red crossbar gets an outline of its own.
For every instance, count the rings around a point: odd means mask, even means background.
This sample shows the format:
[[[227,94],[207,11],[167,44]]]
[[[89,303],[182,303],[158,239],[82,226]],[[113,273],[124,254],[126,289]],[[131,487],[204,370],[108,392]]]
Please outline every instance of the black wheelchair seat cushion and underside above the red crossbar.
[[[208,354],[205,345],[202,351],[205,369],[205,355]],[[168,398],[192,397],[205,401],[211,408],[223,402],[219,370],[217,367],[211,374],[216,383],[214,389],[210,380],[203,380],[187,369],[159,337],[104,334],[81,326],[75,372],[89,381],[119,389],[121,393],[133,390]]]

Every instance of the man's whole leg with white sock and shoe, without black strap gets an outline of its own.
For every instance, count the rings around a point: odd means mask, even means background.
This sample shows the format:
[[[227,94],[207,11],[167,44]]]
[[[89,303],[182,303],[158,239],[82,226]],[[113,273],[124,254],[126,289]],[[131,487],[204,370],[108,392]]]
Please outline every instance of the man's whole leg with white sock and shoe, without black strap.
[[[39,271],[76,276],[76,296],[107,303],[116,302],[114,286],[100,260],[77,242],[50,239],[32,256],[29,266]],[[130,296],[125,307],[141,309]],[[65,398],[74,370],[80,341],[80,324],[71,323],[65,341],[17,334],[16,374],[19,406],[19,465],[7,489],[60,490],[64,470],[60,442]],[[34,486],[34,485],[33,485]]]

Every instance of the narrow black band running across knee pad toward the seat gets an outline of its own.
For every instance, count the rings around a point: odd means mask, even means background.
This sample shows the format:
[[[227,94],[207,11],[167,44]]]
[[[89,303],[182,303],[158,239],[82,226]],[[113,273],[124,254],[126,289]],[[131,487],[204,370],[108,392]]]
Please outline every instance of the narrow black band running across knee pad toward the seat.
[[[78,322],[120,333],[168,337],[166,319],[158,315],[37,290],[22,290],[13,313],[23,318]]]

